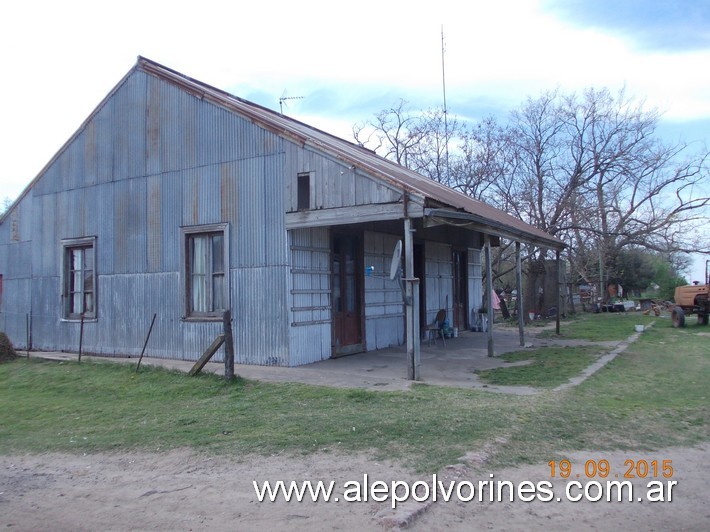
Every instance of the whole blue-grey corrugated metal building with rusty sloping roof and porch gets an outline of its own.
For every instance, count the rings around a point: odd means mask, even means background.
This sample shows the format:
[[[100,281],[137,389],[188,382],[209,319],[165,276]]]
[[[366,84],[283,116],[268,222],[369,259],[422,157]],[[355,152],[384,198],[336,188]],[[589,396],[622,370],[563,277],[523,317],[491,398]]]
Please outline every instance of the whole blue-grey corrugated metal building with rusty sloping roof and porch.
[[[404,222],[406,220],[406,223]],[[18,347],[194,360],[231,310],[237,363],[399,345],[390,261],[415,230],[421,323],[481,304],[484,235],[562,244],[373,152],[137,64],[0,219],[0,329]]]

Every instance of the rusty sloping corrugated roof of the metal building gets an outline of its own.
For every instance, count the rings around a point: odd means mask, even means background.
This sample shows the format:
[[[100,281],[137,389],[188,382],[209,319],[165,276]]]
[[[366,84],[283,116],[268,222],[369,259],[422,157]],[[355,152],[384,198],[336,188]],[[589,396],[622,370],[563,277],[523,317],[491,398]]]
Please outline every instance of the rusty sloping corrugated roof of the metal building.
[[[261,105],[249,102],[206,83],[195,80],[144,57],[136,65],[221,107],[233,110],[274,133],[302,145],[310,145],[329,153],[344,163],[383,179],[409,193],[421,196],[433,206],[428,214],[439,220],[448,219],[457,225],[470,223],[477,230],[495,236],[512,238],[550,248],[562,248],[564,242],[487,203],[466,196],[446,185],[422,176],[371,150],[284,116]]]

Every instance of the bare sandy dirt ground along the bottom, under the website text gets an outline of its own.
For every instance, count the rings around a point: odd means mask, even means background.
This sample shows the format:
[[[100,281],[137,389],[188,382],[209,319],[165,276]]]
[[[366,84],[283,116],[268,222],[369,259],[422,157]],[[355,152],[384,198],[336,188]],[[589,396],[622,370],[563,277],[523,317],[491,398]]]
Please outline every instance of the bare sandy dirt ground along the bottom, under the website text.
[[[584,463],[606,459],[613,475],[629,459],[672,460],[671,502],[639,502],[654,480],[634,481],[633,502],[568,502],[565,482],[553,482],[550,502],[344,502],[348,481],[432,482],[396,465],[359,455],[245,457],[226,460],[179,450],[164,453],[0,456],[0,526],[7,530],[708,530],[710,446],[653,453],[574,453],[572,477],[586,481]],[[438,473],[438,480],[550,481],[547,464],[488,471],[480,455]],[[660,465],[659,465],[660,468]],[[660,476],[660,472],[659,472]],[[336,482],[339,502],[259,502],[252,481]],[[420,486],[421,488],[421,486]],[[420,492],[421,493],[421,492]],[[572,495],[581,490],[572,490]],[[596,491],[592,490],[592,495]],[[470,491],[463,488],[462,495]],[[349,495],[354,495],[350,491]],[[542,494],[544,496],[544,494]],[[441,496],[440,496],[441,497]],[[666,491],[667,497],[667,491]]]

